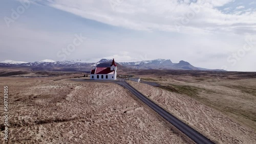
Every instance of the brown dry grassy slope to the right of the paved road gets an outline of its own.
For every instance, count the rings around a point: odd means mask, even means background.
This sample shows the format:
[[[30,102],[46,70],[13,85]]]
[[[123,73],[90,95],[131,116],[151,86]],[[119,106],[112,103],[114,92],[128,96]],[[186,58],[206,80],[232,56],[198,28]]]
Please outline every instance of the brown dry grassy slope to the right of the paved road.
[[[142,94],[216,143],[256,143],[256,79],[140,76]]]

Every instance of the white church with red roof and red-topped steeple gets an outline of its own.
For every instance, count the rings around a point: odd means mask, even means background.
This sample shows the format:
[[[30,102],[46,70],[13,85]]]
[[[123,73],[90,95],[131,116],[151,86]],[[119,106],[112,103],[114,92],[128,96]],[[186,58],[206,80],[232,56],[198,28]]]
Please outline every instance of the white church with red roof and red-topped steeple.
[[[91,80],[116,80],[117,65],[113,59],[110,67],[98,67],[91,70]]]

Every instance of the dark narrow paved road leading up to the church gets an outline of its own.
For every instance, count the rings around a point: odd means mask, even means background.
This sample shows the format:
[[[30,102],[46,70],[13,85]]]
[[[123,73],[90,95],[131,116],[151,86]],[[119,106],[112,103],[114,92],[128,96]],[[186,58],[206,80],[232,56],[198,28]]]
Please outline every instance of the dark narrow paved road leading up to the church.
[[[75,80],[75,81],[82,81],[82,80]],[[102,82],[102,81],[91,81],[91,82]],[[106,81],[104,81],[106,82]],[[154,111],[156,111],[159,115],[161,115],[166,121],[168,121],[170,124],[174,125],[177,129],[179,129],[181,132],[183,132],[185,135],[187,135],[189,138],[194,140],[196,143],[214,143],[193,128],[189,127],[185,123],[181,122],[178,118],[170,114],[169,112],[165,111],[163,108],[152,102],[151,100],[147,99],[143,94],[141,94],[139,91],[137,91],[135,88],[133,88],[131,85],[126,83],[124,80],[119,81],[108,81],[108,82],[114,82],[119,84],[120,86],[130,90],[138,99],[140,99],[143,103],[145,103],[147,106],[152,108]]]

